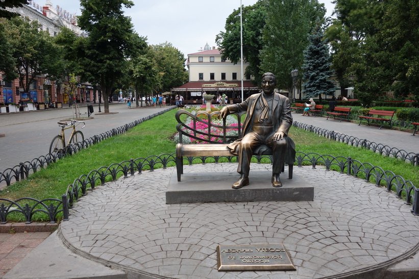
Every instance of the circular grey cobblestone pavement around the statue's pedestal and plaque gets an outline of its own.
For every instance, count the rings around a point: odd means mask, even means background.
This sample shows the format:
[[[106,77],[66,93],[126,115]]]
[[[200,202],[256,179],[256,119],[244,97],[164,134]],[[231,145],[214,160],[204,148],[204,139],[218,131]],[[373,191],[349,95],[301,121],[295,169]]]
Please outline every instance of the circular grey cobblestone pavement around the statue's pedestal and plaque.
[[[184,171],[213,172],[214,183],[230,187],[233,182],[218,182],[216,176],[236,167],[206,164]],[[269,171],[270,165],[251,168]],[[409,257],[419,242],[418,217],[410,206],[347,174],[294,168],[294,175],[314,186],[313,201],[166,205],[174,173],[175,167],[157,169],[96,188],[61,223],[60,236],[88,259],[174,278],[336,277]],[[217,271],[217,245],[278,243],[297,270]]]

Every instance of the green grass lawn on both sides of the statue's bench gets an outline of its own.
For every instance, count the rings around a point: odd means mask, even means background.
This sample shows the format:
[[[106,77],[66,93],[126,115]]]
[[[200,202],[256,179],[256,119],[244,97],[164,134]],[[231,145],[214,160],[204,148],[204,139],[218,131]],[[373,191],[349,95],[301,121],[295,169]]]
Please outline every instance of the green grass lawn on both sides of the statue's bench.
[[[145,121],[129,132],[106,139],[78,154],[32,174],[29,179],[14,183],[0,191],[1,198],[16,200],[21,197],[36,199],[61,198],[69,184],[82,174],[88,174],[102,166],[145,158],[150,155],[171,154],[176,143],[171,137],[176,132],[176,110]],[[352,147],[325,137],[292,127],[289,136],[294,140],[297,151],[321,155],[351,157],[362,163],[369,162],[419,185],[418,167],[394,158],[384,157],[369,150]]]

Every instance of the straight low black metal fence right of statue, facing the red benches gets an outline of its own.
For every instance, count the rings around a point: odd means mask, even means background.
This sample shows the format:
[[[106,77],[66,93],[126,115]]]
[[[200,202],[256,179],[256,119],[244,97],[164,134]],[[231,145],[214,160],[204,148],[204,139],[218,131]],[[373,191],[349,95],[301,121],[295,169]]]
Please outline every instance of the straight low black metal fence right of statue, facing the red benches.
[[[348,136],[346,134],[336,133],[334,131],[329,131],[327,129],[323,128],[317,128],[310,124],[301,123],[298,121],[294,121],[293,126],[303,129],[312,133],[315,133],[317,135],[324,136],[328,139],[343,142],[346,144],[349,144],[351,146],[356,146],[368,150],[372,150],[375,153],[378,153],[380,155],[388,156],[388,157],[394,157],[397,159],[400,159],[405,162],[409,162],[414,166],[419,166],[419,153],[408,153],[406,150],[400,150],[396,147],[390,147],[388,145],[384,145],[381,143],[376,143],[373,141],[369,141],[366,139],[359,139],[354,136]]]

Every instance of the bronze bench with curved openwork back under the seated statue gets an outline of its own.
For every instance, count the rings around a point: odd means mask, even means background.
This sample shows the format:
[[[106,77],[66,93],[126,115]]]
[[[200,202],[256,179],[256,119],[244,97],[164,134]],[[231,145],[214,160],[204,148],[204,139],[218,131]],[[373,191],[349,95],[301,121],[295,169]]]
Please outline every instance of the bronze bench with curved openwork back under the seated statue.
[[[237,117],[237,126],[227,126],[226,119],[223,119],[223,124],[216,124],[212,121],[204,121],[204,119],[213,119],[217,117],[219,111],[207,113],[206,111],[200,111],[195,115],[191,114],[186,110],[179,110],[176,112],[176,120],[178,124],[176,129],[179,132],[179,143],[176,145],[176,171],[178,175],[178,181],[181,181],[181,174],[183,174],[183,160],[184,157],[188,157],[188,161],[192,164],[192,157],[214,157],[217,160],[219,157],[227,157],[231,161],[231,157],[236,155],[230,152],[227,145],[239,138],[241,138],[241,119],[246,112],[234,113]],[[198,126],[207,124],[208,129],[205,132],[197,129]],[[213,132],[214,129],[223,131],[223,133]],[[226,133],[229,130],[229,133]],[[237,131],[237,133],[231,133],[231,131]],[[221,134],[221,135],[219,135]],[[227,135],[229,134],[229,135]],[[232,135],[234,134],[234,135]],[[183,137],[189,137],[191,139],[200,140],[204,143],[182,143]],[[285,163],[288,165],[288,179],[292,179],[292,168],[295,161],[295,145],[291,138],[285,137],[288,141],[288,146],[293,148],[287,148],[285,154]],[[253,153],[254,156],[269,156],[272,155],[272,149],[266,145],[259,146]],[[205,162],[203,160],[203,162]],[[284,166],[282,166],[284,171]]]

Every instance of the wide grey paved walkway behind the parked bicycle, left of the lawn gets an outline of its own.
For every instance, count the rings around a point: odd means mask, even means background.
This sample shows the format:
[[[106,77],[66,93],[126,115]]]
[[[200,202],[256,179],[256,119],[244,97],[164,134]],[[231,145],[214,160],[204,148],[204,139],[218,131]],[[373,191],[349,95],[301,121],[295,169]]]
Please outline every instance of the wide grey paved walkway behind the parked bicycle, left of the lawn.
[[[86,103],[80,104],[82,117],[87,117]],[[145,105],[144,105],[145,106]],[[102,104],[102,113],[104,107]],[[86,126],[80,129],[84,138],[100,135],[124,124],[133,122],[158,111],[171,108],[140,107],[127,108],[127,103],[111,103],[110,112],[116,114],[98,114],[98,105],[94,105],[91,119],[85,120]],[[51,140],[60,133],[57,122],[62,119],[73,118],[72,109],[50,109],[42,111],[29,111],[19,113],[0,113],[0,173],[7,168],[12,168],[20,162],[31,161],[40,156],[45,156],[50,150]],[[68,137],[69,134],[66,134]]]

